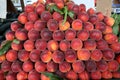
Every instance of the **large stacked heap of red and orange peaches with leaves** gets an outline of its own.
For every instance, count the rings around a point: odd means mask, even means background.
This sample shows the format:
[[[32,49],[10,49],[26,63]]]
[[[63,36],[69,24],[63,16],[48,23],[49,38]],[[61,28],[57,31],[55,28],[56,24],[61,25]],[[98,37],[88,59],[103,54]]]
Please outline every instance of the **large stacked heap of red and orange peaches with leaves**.
[[[27,5],[6,33],[0,80],[120,78],[113,18],[72,1],[41,1]]]

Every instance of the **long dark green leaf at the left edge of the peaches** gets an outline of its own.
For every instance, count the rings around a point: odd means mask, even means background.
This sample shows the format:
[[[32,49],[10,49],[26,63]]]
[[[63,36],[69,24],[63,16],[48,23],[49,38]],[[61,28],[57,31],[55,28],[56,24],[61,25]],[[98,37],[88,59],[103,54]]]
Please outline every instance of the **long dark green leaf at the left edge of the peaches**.
[[[0,48],[0,55],[5,54],[11,47],[12,41],[5,41],[5,43]]]

